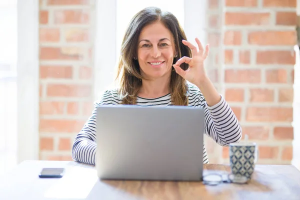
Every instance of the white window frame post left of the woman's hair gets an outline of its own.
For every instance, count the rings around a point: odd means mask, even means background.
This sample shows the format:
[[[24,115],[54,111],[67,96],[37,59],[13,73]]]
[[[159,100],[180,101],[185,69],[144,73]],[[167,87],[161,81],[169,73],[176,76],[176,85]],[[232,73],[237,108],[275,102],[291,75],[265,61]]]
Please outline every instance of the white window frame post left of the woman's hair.
[[[109,20],[108,20],[109,19]],[[116,60],[116,0],[96,1],[94,45],[94,100],[114,78]],[[112,53],[113,52],[113,53]],[[113,61],[112,61],[113,60]]]

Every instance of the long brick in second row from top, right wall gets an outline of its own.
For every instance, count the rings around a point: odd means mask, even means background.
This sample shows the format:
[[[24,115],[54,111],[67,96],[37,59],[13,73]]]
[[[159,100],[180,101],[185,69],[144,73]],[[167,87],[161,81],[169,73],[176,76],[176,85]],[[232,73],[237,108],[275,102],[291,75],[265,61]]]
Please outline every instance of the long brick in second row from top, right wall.
[[[270,23],[268,12],[226,12],[225,25],[267,25]]]

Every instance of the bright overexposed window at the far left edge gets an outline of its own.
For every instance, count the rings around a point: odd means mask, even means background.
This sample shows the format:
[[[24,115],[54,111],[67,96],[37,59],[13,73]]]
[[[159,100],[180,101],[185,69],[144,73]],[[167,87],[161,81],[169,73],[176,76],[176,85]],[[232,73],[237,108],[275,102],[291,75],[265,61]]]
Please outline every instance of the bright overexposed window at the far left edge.
[[[0,174],[17,161],[16,0],[0,0]]]

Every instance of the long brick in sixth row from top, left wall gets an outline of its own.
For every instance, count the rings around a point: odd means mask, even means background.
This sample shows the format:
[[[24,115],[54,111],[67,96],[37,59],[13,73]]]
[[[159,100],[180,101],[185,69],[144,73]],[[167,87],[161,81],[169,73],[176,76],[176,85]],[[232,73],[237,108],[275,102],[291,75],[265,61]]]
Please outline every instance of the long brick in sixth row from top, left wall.
[[[87,97],[91,95],[91,85],[48,84],[47,96]]]

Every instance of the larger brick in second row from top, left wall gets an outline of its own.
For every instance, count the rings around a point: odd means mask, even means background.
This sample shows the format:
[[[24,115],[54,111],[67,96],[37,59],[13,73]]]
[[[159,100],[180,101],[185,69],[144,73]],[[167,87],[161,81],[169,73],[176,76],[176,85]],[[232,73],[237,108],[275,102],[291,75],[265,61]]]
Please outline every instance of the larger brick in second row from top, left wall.
[[[56,10],[54,11],[55,24],[87,24],[89,23],[89,12],[82,9]]]

